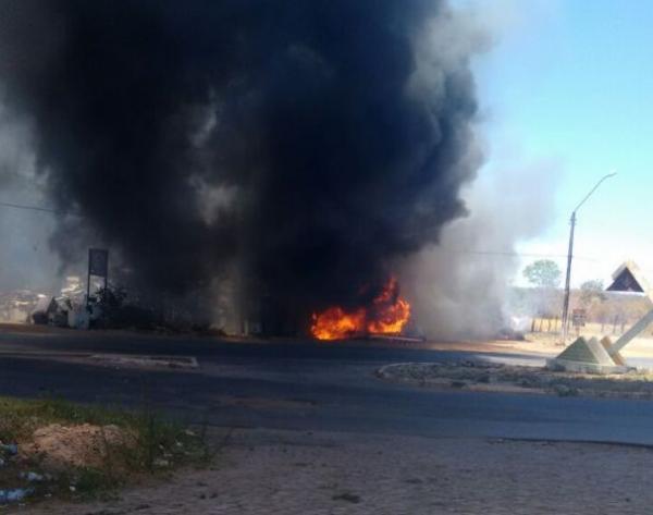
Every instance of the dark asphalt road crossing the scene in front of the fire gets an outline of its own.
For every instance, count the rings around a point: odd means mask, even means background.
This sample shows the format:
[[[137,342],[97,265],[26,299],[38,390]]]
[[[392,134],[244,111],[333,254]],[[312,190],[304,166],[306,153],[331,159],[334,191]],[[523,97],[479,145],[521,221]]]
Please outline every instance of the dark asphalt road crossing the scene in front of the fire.
[[[197,369],[95,364],[88,354],[195,356]],[[653,403],[439,392],[385,383],[401,361],[515,356],[371,344],[230,343],[199,338],[0,333],[0,394],[155,407],[227,427],[653,445]],[[534,356],[517,356],[533,364]]]

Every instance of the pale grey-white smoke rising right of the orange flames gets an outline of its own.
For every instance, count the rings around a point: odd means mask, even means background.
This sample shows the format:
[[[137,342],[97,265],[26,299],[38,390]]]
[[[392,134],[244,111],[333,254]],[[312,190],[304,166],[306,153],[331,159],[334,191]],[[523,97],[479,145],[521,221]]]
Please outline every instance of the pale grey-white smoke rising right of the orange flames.
[[[464,193],[470,214],[447,224],[440,245],[399,265],[412,318],[431,339],[489,338],[506,324],[510,281],[521,241],[546,228],[558,164],[492,167]]]

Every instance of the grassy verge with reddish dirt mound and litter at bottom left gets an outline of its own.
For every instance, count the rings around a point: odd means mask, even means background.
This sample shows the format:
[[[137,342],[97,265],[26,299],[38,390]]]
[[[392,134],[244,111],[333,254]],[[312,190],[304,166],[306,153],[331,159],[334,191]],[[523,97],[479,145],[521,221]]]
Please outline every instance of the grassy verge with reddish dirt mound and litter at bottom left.
[[[0,505],[110,496],[210,458],[204,431],[150,412],[0,397]]]

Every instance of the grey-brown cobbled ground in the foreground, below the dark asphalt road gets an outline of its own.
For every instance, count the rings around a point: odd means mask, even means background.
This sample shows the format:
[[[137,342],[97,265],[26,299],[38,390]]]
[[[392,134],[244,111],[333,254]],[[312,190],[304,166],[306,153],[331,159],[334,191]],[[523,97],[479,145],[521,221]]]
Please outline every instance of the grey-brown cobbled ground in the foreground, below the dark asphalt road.
[[[215,465],[35,515],[645,514],[653,451],[618,445],[237,430]]]

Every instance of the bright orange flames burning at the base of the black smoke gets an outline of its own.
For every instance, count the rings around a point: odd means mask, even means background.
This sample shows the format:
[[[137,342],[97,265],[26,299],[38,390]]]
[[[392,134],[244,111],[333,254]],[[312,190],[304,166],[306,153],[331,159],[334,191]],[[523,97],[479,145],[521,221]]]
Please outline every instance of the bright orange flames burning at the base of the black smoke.
[[[318,340],[341,340],[369,333],[398,334],[409,319],[410,304],[399,295],[397,280],[391,278],[370,307],[347,312],[340,306],[332,306],[312,315],[310,331]]]

